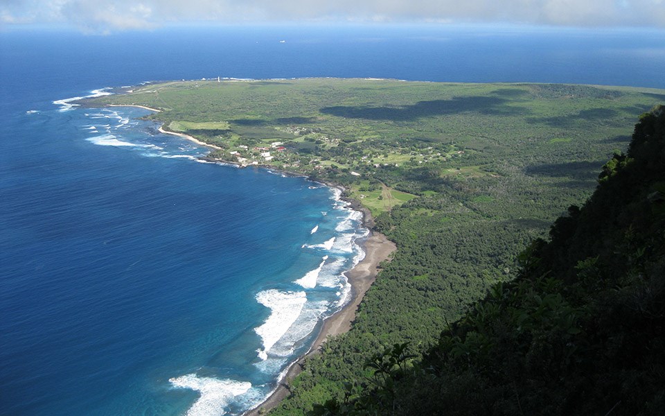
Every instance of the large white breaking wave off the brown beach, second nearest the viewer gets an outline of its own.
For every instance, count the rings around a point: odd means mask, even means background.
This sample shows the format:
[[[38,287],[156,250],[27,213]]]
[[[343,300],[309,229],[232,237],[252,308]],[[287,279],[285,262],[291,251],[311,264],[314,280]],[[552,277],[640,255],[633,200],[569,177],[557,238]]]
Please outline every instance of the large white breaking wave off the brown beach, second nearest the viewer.
[[[258,349],[262,360],[268,358],[268,352],[298,319],[307,297],[305,292],[281,292],[269,289],[256,294],[258,303],[270,309],[270,316],[265,323],[254,331],[263,340],[263,349]]]

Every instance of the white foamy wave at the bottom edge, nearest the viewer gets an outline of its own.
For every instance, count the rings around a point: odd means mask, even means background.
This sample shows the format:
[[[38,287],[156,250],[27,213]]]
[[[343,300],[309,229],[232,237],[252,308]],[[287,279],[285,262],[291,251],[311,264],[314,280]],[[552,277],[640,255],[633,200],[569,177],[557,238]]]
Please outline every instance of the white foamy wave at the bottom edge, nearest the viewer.
[[[211,377],[197,377],[196,374],[169,379],[170,383],[177,388],[189,388],[201,394],[187,410],[187,416],[219,416],[224,415],[224,408],[233,397],[247,392],[251,383],[247,381],[218,380]]]

